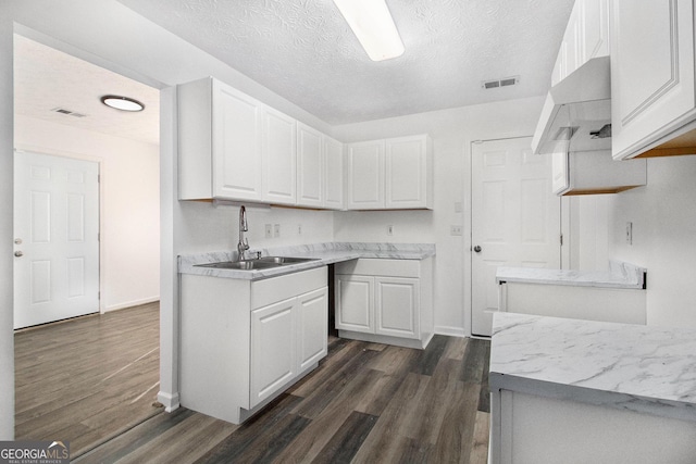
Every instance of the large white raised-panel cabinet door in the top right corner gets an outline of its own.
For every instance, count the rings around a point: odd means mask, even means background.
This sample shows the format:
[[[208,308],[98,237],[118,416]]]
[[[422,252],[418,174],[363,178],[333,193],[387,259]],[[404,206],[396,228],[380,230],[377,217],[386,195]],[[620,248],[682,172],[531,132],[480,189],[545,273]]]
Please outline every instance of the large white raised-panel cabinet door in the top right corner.
[[[692,0],[613,0],[612,154],[636,155],[694,115]]]

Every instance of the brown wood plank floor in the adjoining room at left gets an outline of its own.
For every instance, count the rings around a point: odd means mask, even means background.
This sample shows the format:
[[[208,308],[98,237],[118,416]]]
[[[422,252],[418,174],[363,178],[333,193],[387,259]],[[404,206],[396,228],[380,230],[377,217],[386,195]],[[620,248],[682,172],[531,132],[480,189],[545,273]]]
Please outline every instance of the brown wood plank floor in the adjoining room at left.
[[[14,335],[15,439],[66,440],[73,456],[162,411],[159,303]]]

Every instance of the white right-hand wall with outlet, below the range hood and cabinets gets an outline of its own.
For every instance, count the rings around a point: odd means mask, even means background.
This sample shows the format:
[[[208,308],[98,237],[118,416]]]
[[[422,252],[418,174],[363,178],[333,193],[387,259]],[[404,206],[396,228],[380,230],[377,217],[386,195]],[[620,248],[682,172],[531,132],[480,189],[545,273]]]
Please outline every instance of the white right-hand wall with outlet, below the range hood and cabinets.
[[[696,327],[696,155],[649,159],[648,185],[608,208],[609,255],[648,269],[648,325]]]

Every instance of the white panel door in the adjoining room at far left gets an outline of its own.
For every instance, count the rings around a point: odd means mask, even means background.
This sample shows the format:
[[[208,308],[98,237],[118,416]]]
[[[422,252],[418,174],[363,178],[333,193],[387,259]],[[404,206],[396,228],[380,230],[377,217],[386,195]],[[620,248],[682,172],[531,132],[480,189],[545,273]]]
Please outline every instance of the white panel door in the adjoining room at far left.
[[[99,165],[14,154],[14,328],[99,311]]]

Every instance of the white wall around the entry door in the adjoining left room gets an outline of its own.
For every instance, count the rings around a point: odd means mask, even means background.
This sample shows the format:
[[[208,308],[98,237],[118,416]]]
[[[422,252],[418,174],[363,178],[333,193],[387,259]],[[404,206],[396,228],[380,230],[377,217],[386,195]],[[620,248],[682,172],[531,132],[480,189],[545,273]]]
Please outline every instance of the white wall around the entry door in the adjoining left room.
[[[101,166],[101,310],[160,298],[159,146],[15,116],[15,147]]]

